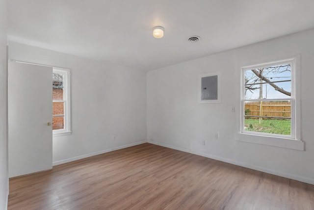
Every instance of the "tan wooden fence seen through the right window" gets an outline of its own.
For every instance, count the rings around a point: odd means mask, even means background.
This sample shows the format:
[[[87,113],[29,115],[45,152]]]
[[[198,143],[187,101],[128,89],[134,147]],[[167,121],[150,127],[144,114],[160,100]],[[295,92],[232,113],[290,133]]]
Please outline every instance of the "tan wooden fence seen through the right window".
[[[278,119],[287,119],[291,117],[291,102],[245,102],[245,115],[264,117],[278,117]]]

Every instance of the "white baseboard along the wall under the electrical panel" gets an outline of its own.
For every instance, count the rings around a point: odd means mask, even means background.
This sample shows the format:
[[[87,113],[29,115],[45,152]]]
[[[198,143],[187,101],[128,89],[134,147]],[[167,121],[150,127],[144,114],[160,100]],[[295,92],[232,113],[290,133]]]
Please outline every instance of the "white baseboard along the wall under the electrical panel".
[[[191,151],[191,150],[186,150],[186,149],[182,149],[182,148],[179,148],[179,147],[174,147],[174,146],[171,146],[171,145],[162,144],[162,143],[158,143],[158,142],[154,142],[154,141],[148,141],[148,143],[156,144],[156,145],[159,145],[159,146],[162,146],[162,147],[167,147],[167,148],[174,149],[174,150],[183,151],[183,152],[186,152],[186,153],[191,153],[191,154],[194,154],[194,155],[208,157],[208,158],[215,159],[215,160],[220,160],[220,161],[223,161],[223,162],[231,163],[231,164],[242,166],[242,167],[245,167],[245,168],[250,168],[250,169],[254,169],[254,170],[257,170],[257,171],[262,171],[262,172],[265,172],[265,173],[268,173],[268,174],[273,174],[273,175],[277,175],[277,176],[280,176],[280,177],[285,177],[285,178],[288,178],[288,179],[291,179],[291,180],[296,180],[296,181],[300,181],[300,182],[304,182],[304,183],[308,183],[308,184],[314,184],[314,179],[310,179],[310,178],[306,178],[306,177],[300,177],[300,176],[293,175],[293,174],[288,174],[288,173],[284,173],[284,172],[280,172],[280,171],[276,171],[276,170],[272,170],[272,169],[268,169],[268,168],[263,168],[263,167],[250,165],[250,164],[247,164],[247,163],[243,163],[243,162],[238,162],[238,161],[235,161],[235,160],[232,160],[232,159],[229,159],[229,158],[225,158],[225,157],[212,156],[212,155],[209,155],[209,154],[195,152],[195,151]]]

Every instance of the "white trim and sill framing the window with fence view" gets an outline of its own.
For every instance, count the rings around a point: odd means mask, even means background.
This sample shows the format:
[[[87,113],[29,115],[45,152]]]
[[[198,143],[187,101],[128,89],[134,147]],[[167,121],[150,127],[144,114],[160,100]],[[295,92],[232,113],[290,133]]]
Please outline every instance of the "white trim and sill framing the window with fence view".
[[[279,135],[271,133],[260,133],[254,131],[244,131],[244,71],[252,68],[276,65],[280,63],[291,63],[291,135]],[[295,149],[304,151],[304,142],[300,135],[300,56],[267,62],[257,65],[245,66],[241,68],[241,110],[240,110],[240,132],[236,134],[236,140],[263,144],[275,147]],[[297,65],[297,66],[296,66]],[[265,100],[266,101],[266,100]],[[293,111],[292,111],[293,110]]]

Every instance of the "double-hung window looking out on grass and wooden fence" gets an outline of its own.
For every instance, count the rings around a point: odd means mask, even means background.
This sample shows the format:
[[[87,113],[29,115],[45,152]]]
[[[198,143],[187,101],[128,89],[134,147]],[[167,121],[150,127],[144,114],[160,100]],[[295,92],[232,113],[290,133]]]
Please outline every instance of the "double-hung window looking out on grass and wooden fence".
[[[295,58],[241,69],[241,132],[296,139]]]

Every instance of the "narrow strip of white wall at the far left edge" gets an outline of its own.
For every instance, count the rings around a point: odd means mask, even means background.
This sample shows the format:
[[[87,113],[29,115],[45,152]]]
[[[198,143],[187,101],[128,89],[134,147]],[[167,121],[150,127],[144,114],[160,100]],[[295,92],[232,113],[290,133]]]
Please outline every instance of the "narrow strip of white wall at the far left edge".
[[[7,208],[9,189],[7,168],[7,29],[6,0],[0,0],[0,209]]]

